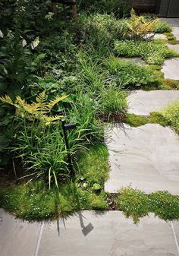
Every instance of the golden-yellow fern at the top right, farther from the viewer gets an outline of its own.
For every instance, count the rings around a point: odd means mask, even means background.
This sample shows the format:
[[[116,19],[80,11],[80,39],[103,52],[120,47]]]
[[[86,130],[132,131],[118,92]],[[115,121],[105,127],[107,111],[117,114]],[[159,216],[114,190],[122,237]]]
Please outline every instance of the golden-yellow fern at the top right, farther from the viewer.
[[[143,16],[137,16],[133,8],[130,11],[130,19],[126,21],[130,36],[134,37],[143,37],[148,33],[152,33],[156,25],[159,22],[159,19],[152,21],[147,21]]]

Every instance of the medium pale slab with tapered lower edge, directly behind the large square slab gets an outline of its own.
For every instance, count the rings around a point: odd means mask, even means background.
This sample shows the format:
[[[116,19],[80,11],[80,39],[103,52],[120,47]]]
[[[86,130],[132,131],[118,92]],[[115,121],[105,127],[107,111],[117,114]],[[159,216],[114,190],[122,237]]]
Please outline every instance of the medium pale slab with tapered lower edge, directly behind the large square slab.
[[[149,115],[150,112],[164,109],[176,100],[179,100],[178,90],[131,91],[127,97],[128,112],[135,115]]]

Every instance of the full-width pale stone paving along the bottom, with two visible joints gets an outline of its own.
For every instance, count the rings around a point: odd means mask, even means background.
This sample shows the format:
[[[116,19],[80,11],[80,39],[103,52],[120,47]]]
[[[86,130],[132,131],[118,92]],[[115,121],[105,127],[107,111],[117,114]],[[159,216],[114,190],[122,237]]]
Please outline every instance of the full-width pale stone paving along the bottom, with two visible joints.
[[[179,225],[150,215],[134,225],[119,211],[83,211],[53,223],[0,209],[1,256],[178,256]]]

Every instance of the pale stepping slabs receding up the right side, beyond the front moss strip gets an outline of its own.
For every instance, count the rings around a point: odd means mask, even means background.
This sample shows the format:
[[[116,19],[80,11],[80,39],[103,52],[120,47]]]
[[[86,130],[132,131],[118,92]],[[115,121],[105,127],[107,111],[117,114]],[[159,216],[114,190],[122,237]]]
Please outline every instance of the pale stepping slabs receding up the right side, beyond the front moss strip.
[[[174,27],[174,36],[179,36],[179,19],[167,21]],[[171,48],[176,50],[178,46]],[[165,77],[179,80],[179,58],[166,60],[162,71]],[[132,91],[127,98],[128,112],[148,116],[176,100],[179,100],[178,90]],[[116,193],[132,185],[146,193],[168,190],[179,195],[179,137],[171,128],[157,124],[138,128],[115,124],[106,129],[105,143],[111,165],[105,191]]]

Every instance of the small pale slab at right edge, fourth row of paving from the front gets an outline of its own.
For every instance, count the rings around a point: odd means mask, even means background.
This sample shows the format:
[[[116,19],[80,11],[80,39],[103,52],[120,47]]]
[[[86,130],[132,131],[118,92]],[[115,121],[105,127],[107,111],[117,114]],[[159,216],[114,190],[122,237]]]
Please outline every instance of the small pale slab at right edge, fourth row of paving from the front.
[[[165,78],[179,80],[179,58],[165,59],[161,71]]]

